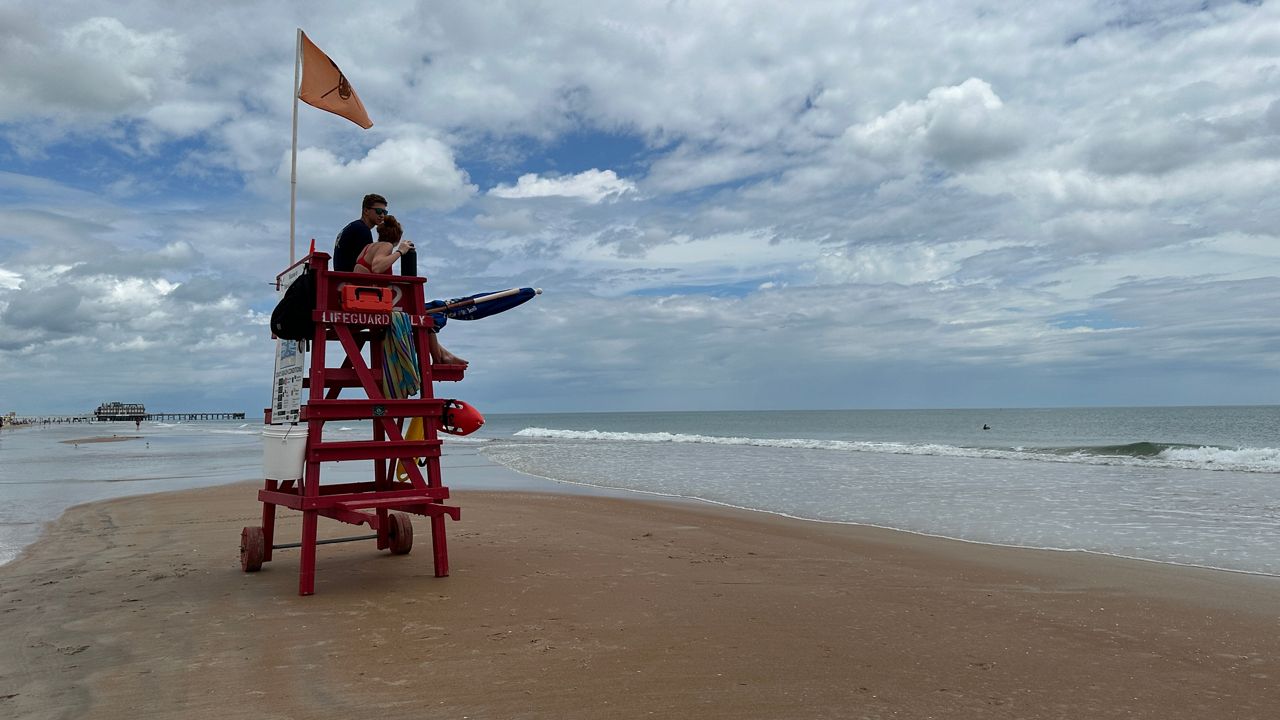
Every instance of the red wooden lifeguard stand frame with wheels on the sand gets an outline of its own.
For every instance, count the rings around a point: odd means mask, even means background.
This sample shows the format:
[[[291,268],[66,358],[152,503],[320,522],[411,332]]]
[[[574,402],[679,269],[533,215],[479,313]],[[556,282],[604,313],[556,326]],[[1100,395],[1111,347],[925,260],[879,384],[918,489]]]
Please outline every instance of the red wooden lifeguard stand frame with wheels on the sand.
[[[357,274],[332,272],[329,255],[312,252],[284,273],[306,265],[315,273],[316,309],[312,314],[315,340],[311,343],[310,372],[303,382],[308,388],[307,402],[301,409],[306,421],[307,442],[303,473],[298,480],[266,479],[259,491],[262,502],[262,525],[244,528],[241,533],[241,566],[255,571],[271,560],[271,551],[298,547],[302,557],[298,569],[298,594],[315,592],[316,546],[332,542],[376,539],[378,550],[404,555],[413,543],[410,514],[425,515],[431,523],[431,546],[435,577],[449,574],[449,553],[444,537],[444,518],[460,519],[461,510],[444,505],[449,488],[440,479],[439,427],[444,400],[436,400],[433,382],[461,380],[465,365],[433,365],[428,332],[433,327],[422,295],[424,278],[412,275]],[[422,380],[420,398],[388,398],[383,393],[381,337],[390,315],[378,311],[347,311],[340,292],[346,283],[390,288],[396,309],[410,315],[413,325],[413,347],[417,350]],[[325,366],[328,342],[337,341],[346,354],[339,368]],[[369,345],[366,364],[361,347]],[[339,400],[343,388],[361,388],[364,398]],[[404,439],[399,423],[406,418],[422,418],[422,439]],[[324,424],[332,420],[372,420],[372,439],[326,442]],[[300,428],[301,429],[301,428]],[[425,460],[425,477],[413,459]],[[321,464],[347,460],[372,460],[371,482],[321,484]],[[408,482],[397,482],[397,461],[403,460]],[[275,507],[302,512],[302,542],[274,544]],[[316,541],[320,518],[332,518],[352,525],[369,525],[375,534]]]

